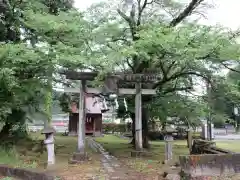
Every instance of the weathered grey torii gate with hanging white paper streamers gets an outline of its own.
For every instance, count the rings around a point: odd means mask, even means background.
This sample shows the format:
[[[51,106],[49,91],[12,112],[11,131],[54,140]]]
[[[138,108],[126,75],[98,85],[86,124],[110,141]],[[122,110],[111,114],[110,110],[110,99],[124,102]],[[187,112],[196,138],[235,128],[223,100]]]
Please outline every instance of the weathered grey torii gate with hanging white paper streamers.
[[[65,71],[66,79],[80,80],[80,89],[65,87],[66,93],[79,93],[79,130],[78,130],[78,152],[85,153],[85,98],[84,93],[91,94],[116,94],[116,95],[134,95],[135,94],[135,144],[136,150],[141,151],[142,143],[142,95],[155,95],[155,89],[142,89],[142,83],[149,83],[158,80],[155,74],[110,74],[105,79],[104,88],[88,88],[86,81],[93,81],[97,77],[97,72],[74,72]],[[119,81],[134,82],[134,89],[118,88]]]

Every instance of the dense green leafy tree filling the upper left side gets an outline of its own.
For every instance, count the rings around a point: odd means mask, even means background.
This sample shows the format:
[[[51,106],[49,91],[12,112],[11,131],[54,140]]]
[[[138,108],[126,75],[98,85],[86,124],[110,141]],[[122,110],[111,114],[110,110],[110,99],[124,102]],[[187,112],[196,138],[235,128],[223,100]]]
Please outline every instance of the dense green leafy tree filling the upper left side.
[[[8,136],[14,125],[23,125],[29,108],[38,109],[52,91],[56,68],[70,62],[60,57],[69,41],[72,47],[73,35],[77,34],[75,45],[83,44],[79,37],[84,21],[71,7],[72,1],[65,0],[0,2],[0,115],[5,123],[1,137]],[[50,102],[51,95],[47,97]]]

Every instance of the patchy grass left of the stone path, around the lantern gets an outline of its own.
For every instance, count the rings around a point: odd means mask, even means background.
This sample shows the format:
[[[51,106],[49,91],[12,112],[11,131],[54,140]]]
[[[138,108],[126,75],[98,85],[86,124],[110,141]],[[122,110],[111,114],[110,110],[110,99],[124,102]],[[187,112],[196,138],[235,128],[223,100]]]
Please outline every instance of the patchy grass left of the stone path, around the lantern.
[[[11,150],[0,150],[0,164],[13,167],[37,168],[43,171],[47,162],[46,150],[41,153],[38,147],[44,136],[40,133],[31,134],[32,140],[21,140]],[[69,159],[77,150],[77,137],[55,136],[56,165],[53,171],[63,178],[89,179],[102,174],[99,154],[86,146],[90,161],[80,165],[69,165]],[[90,177],[89,177],[90,176]]]

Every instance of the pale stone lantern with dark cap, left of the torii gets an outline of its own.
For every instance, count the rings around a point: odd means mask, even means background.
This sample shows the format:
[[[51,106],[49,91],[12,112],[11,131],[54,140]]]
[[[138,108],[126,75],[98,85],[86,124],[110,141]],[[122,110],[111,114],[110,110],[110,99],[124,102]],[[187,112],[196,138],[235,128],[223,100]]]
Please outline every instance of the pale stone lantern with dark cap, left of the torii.
[[[42,134],[45,134],[46,139],[44,144],[47,148],[48,160],[47,167],[55,164],[55,152],[54,152],[54,133],[55,129],[53,127],[45,127],[42,131]]]

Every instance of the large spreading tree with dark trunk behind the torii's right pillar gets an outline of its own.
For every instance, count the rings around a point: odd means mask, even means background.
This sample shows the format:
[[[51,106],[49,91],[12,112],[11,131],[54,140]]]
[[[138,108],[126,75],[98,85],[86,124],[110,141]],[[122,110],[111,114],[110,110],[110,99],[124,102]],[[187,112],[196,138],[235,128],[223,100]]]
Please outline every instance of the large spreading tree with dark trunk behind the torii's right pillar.
[[[203,3],[136,0],[92,6],[86,19],[92,24],[92,40],[88,44],[94,69],[133,73],[154,69],[162,78],[146,87],[157,88],[160,95],[189,91],[196,79],[209,81],[214,71],[229,68],[228,59],[238,58],[239,45],[235,32],[189,22],[188,17]],[[144,96],[143,104],[151,100]],[[144,147],[149,146],[148,111],[143,106]]]

